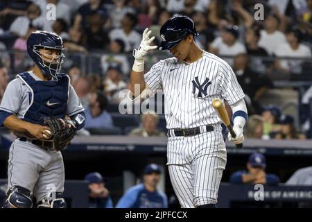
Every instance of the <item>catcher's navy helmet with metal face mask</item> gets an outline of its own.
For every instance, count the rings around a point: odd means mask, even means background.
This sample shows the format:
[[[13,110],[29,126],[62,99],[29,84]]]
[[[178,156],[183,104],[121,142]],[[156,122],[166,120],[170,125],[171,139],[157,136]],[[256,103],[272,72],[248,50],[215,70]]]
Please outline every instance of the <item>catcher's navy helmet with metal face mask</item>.
[[[40,48],[58,50],[57,58],[52,58],[50,61],[44,60],[42,57],[44,53],[39,51]],[[65,56],[62,38],[57,34],[46,31],[35,31],[31,33],[27,40],[27,53],[40,68],[42,74],[53,77],[60,74]]]

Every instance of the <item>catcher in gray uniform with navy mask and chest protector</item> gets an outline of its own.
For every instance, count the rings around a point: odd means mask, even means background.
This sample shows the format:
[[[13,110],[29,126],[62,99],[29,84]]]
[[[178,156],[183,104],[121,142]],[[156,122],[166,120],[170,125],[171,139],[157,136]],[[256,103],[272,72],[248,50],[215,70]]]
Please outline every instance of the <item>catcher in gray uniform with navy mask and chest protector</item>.
[[[63,208],[64,164],[62,151],[85,123],[84,108],[60,74],[64,63],[62,39],[36,31],[27,40],[33,71],[12,80],[0,105],[0,125],[17,139],[8,160],[8,199],[5,208]],[[65,119],[65,117],[69,117]]]

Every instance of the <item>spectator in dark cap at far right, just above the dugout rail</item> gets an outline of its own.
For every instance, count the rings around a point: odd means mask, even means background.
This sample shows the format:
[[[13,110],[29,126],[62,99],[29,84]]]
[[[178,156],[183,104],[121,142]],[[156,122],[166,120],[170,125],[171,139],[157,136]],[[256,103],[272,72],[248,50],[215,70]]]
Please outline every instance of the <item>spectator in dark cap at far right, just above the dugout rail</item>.
[[[302,133],[298,132],[295,127],[295,119],[291,115],[281,115],[279,123],[281,130],[275,134],[275,139],[306,139]]]

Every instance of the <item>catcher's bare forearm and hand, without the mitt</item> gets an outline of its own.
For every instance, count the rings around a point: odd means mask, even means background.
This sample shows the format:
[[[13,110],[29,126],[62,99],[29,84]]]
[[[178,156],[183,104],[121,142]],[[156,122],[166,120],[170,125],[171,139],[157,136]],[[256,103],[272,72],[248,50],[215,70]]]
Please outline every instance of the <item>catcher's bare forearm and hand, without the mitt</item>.
[[[0,113],[1,119],[3,119],[3,123],[1,125],[6,126],[6,128],[13,130],[19,133],[30,133],[37,139],[44,139],[44,135],[49,137],[49,133],[45,130],[50,130],[48,126],[42,126],[39,124],[29,123],[27,121],[21,120],[12,113],[5,113],[5,111],[1,111]]]

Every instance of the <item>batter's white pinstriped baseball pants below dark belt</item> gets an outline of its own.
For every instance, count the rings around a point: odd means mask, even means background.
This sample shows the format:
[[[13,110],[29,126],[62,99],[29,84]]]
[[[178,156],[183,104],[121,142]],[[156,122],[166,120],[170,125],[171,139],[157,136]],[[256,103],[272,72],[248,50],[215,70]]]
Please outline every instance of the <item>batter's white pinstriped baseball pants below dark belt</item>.
[[[182,208],[217,203],[227,162],[221,132],[169,137],[167,155],[171,184]]]

